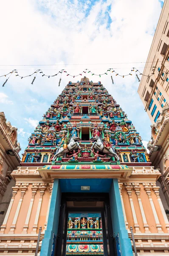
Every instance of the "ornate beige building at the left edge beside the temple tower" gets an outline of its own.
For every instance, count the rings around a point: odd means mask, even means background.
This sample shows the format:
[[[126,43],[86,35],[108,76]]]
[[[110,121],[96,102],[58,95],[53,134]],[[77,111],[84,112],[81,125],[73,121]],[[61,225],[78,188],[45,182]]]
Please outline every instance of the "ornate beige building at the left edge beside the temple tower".
[[[20,144],[17,143],[17,128],[6,122],[0,112],[0,225],[3,223],[12,197],[15,181],[11,172],[20,166]]]

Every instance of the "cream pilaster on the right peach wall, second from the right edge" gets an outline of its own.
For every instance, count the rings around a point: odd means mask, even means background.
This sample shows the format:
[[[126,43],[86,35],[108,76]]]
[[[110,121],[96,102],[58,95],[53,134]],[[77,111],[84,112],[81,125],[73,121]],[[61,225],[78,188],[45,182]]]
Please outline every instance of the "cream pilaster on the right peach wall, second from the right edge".
[[[146,193],[147,193],[148,198],[149,198],[150,205],[152,207],[152,212],[153,212],[153,215],[154,215],[154,218],[155,218],[155,223],[156,223],[156,227],[157,227],[158,233],[163,233],[163,230],[161,228],[161,224],[160,224],[160,221],[158,219],[158,215],[157,215],[154,203],[152,201],[152,196],[151,196],[151,189],[152,189],[152,187],[151,187],[151,185],[149,183],[143,183],[143,186],[144,186],[144,189],[146,190]]]

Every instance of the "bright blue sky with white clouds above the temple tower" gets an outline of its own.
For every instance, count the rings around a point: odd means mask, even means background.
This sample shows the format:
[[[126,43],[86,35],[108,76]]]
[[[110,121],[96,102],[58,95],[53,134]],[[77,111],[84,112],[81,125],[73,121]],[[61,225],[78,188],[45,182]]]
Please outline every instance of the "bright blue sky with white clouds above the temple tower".
[[[9,8],[10,6],[10,8]],[[54,75],[86,68],[95,74],[107,69],[129,74],[141,72],[149,53],[163,6],[161,0],[6,0],[1,3],[0,76],[13,69],[20,76],[37,69]],[[5,11],[7,10],[7,12]],[[85,75],[85,73],[83,73]],[[18,128],[22,151],[43,114],[62,92],[70,78],[62,74],[37,74],[20,79],[13,73],[4,87],[0,78],[0,111]],[[110,76],[113,76],[114,84]],[[136,76],[121,78],[114,73],[87,77],[101,81],[140,133],[144,145],[150,140],[150,120],[138,96]],[[141,76],[139,76],[141,79]]]

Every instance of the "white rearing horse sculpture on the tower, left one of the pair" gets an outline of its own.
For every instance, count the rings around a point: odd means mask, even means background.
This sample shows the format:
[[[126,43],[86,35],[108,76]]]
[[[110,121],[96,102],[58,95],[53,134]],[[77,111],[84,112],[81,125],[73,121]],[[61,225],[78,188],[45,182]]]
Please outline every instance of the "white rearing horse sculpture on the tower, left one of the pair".
[[[63,154],[68,153],[70,151],[75,150],[76,148],[80,148],[79,143],[78,143],[78,137],[71,137],[69,140],[69,144],[67,148],[59,147],[56,150],[56,154],[54,155],[53,161],[56,161],[57,157],[61,157]]]

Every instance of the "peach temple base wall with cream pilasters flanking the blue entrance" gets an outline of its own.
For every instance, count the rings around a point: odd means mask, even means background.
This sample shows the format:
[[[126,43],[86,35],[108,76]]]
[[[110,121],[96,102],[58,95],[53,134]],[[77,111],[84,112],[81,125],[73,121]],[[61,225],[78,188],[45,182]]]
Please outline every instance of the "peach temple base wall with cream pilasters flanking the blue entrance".
[[[96,172],[95,177],[101,175],[97,170],[93,172]],[[69,175],[70,172],[65,173],[65,177]],[[82,173],[78,175],[80,178]],[[159,176],[158,170],[152,167],[135,167],[130,177],[118,177],[124,221],[130,238],[130,226],[133,227],[139,255],[169,256],[169,221],[155,183]],[[13,172],[13,177],[16,186],[13,188],[11,210],[9,206],[0,229],[0,255],[30,256],[35,253],[40,226],[41,240],[44,237],[52,180],[42,180],[35,167],[20,167]]]

